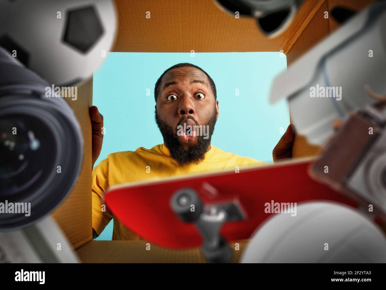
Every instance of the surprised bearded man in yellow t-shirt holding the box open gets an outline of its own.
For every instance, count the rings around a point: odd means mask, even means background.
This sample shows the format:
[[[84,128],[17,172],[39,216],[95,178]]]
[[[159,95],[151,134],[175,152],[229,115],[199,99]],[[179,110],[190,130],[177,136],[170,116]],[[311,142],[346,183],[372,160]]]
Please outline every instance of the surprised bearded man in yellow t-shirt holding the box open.
[[[198,66],[179,63],[168,68],[156,82],[154,98],[156,123],[164,143],[151,149],[140,147],[135,151],[109,154],[93,169],[93,238],[113,219],[113,240],[141,239],[103,206],[104,194],[110,186],[186,173],[235,170],[235,166],[242,170],[244,166],[265,164],[222,151],[210,143],[219,115],[217,92],[212,78]],[[95,106],[90,108],[90,116],[94,165],[102,148],[103,117]],[[293,127],[289,126],[273,150],[274,160],[291,157],[293,138]]]

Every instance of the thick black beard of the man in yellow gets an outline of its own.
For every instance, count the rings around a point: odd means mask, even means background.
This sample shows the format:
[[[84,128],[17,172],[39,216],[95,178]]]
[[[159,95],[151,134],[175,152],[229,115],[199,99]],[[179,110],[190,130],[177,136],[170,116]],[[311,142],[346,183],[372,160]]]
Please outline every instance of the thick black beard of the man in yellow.
[[[179,120],[179,123],[184,119],[193,119],[182,117]],[[196,125],[199,125],[198,122],[193,119]],[[184,149],[181,145],[181,142],[177,136],[177,127],[172,128],[166,122],[161,120],[157,115],[156,111],[156,122],[161,131],[161,134],[164,138],[164,144],[166,148],[169,149],[170,157],[173,158],[179,166],[185,165],[198,165],[205,159],[205,154],[207,153],[208,147],[210,146],[210,140],[212,139],[212,134],[215,129],[216,124],[216,110],[213,110],[213,114],[208,118],[203,126],[209,125],[208,139],[204,139],[204,136],[196,136],[197,143],[190,146],[188,149]]]

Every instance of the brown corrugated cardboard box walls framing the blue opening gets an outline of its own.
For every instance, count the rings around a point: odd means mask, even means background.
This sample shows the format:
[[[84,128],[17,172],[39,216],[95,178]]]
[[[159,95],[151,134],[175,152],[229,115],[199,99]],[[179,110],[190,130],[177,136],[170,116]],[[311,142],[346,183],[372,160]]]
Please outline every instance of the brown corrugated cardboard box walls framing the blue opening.
[[[299,56],[326,37],[338,24],[325,19],[324,12],[335,4],[363,8],[372,0],[306,0],[295,19],[280,36],[269,39],[253,18],[237,19],[210,0],[116,0],[119,31],[116,52],[251,52],[283,51],[290,65]],[[150,19],[146,13],[150,12]],[[92,79],[78,90],[76,102],[70,102],[78,118],[84,139],[83,167],[76,187],[54,212],[78,255],[84,262],[202,262],[200,249],[183,251],[157,246],[151,256],[144,241],[91,241],[91,122]],[[296,137],[293,156],[315,154],[317,148]],[[244,248],[247,242],[240,243]],[[240,254],[240,252],[237,252]],[[236,260],[239,256],[236,256]],[[235,260],[235,261],[236,261]]]

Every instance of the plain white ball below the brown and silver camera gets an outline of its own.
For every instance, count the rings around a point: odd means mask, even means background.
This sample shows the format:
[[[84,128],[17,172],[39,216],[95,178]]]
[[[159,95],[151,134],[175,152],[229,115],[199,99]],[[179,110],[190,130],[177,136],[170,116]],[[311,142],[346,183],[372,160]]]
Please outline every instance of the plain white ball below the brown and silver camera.
[[[273,214],[252,235],[242,263],[385,263],[386,238],[356,210],[306,202]]]

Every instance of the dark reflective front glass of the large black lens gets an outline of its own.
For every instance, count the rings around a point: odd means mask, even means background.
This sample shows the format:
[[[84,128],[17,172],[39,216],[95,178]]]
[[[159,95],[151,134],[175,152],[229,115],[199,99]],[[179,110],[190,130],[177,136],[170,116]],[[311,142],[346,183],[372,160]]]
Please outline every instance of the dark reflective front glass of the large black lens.
[[[39,119],[28,115],[0,119],[0,197],[25,198],[44,183],[54,166],[52,139],[49,127]]]

